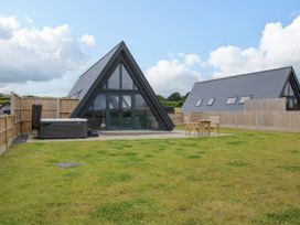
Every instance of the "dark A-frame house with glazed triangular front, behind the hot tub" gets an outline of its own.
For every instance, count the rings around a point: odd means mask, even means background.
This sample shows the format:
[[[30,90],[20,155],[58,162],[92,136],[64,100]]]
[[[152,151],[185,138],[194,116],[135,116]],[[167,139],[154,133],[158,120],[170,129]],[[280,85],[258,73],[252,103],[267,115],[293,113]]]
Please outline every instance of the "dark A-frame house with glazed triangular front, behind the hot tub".
[[[68,97],[79,99],[71,117],[87,118],[93,129],[174,127],[125,42],[87,69]]]

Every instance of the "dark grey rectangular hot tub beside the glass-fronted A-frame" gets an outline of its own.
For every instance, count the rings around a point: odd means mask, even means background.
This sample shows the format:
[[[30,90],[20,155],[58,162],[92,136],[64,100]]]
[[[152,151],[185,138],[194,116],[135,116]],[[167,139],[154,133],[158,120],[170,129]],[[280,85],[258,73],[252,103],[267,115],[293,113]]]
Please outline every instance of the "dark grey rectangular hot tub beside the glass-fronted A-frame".
[[[39,138],[86,138],[87,119],[65,118],[65,119],[41,119]]]

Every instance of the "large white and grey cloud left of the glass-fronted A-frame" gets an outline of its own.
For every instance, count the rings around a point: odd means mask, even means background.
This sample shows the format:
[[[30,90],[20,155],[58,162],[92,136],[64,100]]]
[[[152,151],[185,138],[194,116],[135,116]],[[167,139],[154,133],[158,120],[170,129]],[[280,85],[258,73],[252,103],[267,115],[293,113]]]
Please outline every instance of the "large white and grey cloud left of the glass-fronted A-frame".
[[[0,92],[3,84],[18,92],[13,87],[31,87],[31,83],[51,92],[51,86],[39,82],[81,69],[87,60],[83,49],[67,24],[22,28],[14,17],[0,18]]]

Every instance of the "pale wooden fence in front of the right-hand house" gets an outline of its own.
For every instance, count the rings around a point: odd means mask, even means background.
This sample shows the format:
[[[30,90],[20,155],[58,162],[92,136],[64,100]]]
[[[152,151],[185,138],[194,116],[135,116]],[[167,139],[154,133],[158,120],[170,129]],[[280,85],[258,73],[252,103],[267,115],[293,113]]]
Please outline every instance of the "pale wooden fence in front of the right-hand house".
[[[199,121],[210,116],[218,116],[222,127],[300,131],[300,111],[287,111],[285,98],[249,100],[245,103],[244,111],[184,113],[182,122]],[[179,117],[180,114],[176,121],[180,121]]]

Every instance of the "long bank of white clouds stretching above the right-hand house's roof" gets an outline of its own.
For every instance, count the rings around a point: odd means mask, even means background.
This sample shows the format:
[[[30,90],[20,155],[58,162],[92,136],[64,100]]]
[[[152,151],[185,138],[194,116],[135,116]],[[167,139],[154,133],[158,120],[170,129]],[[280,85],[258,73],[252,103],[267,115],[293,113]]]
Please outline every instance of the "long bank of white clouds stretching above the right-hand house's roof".
[[[292,65],[300,74],[300,15],[290,24],[270,22],[265,25],[257,46],[242,49],[226,45],[212,51],[208,60],[196,54],[169,54],[146,72],[157,93],[185,93],[202,79],[201,71],[212,71],[212,77],[224,77],[255,71]]]

